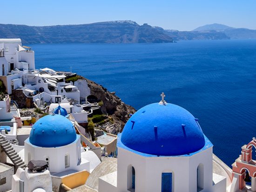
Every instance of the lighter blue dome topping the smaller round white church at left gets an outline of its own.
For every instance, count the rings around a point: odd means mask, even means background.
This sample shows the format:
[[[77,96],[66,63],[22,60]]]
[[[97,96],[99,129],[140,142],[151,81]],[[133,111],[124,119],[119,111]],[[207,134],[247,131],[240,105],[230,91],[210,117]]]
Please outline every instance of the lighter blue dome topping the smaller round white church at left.
[[[46,115],[35,122],[30,131],[29,141],[34,146],[66,146],[76,139],[73,124],[62,115]]]

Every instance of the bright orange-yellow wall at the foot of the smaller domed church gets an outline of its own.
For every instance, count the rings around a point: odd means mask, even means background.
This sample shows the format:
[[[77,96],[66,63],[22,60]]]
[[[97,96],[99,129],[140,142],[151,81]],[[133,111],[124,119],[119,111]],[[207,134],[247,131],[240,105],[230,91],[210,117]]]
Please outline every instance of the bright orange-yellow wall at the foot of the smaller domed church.
[[[88,171],[76,172],[61,179],[61,182],[67,187],[74,189],[84,185],[90,173]]]

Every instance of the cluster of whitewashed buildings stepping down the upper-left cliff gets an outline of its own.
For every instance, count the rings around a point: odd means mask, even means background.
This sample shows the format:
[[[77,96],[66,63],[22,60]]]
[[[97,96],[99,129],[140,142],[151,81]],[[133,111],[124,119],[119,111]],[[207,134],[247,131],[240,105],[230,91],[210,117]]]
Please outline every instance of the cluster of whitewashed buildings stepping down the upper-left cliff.
[[[22,46],[20,39],[0,39],[0,80],[6,86],[7,93],[22,90],[38,107],[44,107],[45,103],[61,103],[64,99],[64,103],[68,101],[70,104],[65,106],[67,111],[79,123],[84,123],[87,122],[87,112],[83,107],[90,105],[86,99],[90,89],[86,80],[80,79],[74,83],[76,86],[66,83],[67,76],[72,75],[76,74],[56,73],[49,68],[36,70],[34,51],[30,47]]]

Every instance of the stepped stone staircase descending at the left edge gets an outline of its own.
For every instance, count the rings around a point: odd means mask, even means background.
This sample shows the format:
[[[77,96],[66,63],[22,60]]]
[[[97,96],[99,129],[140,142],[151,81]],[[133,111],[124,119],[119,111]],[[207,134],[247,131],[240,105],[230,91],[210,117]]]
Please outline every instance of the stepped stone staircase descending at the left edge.
[[[17,170],[19,167],[22,169],[26,168],[26,165],[23,162],[23,160],[13,149],[11,144],[6,140],[6,138],[2,135],[0,135],[0,146],[2,147],[2,150],[7,154],[8,158],[11,159],[11,161],[13,162],[15,170]]]

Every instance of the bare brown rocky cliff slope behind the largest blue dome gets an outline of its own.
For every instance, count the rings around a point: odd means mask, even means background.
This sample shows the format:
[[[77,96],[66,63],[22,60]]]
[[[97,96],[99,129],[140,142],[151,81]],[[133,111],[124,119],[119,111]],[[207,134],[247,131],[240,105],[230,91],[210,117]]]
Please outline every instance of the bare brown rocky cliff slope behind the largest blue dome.
[[[103,102],[103,105],[101,106],[102,113],[107,113],[113,118],[115,126],[112,129],[114,131],[108,130],[108,132],[121,132],[128,120],[129,114],[135,113],[135,108],[122,102],[115,93],[110,93],[103,86],[98,85],[89,79],[87,79],[87,81],[91,94],[96,96],[99,101],[101,100]]]

